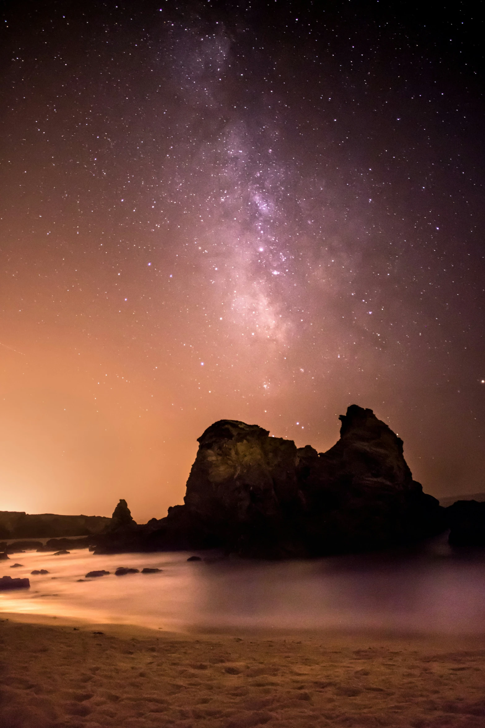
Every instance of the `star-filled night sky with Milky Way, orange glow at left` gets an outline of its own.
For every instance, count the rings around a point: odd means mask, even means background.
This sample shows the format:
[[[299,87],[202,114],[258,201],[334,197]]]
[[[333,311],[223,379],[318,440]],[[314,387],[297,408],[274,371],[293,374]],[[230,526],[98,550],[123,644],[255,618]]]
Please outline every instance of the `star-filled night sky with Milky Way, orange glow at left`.
[[[161,518],[212,422],[323,451],[351,403],[425,491],[485,490],[471,4],[0,21],[0,510]]]

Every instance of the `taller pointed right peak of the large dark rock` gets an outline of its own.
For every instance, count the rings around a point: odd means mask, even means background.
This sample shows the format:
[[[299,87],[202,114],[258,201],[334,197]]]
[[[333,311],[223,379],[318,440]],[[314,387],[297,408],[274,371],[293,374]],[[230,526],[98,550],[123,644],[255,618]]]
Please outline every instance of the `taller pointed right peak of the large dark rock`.
[[[340,421],[340,440],[299,478],[310,550],[382,547],[444,530],[444,509],[412,479],[390,427],[357,405]]]

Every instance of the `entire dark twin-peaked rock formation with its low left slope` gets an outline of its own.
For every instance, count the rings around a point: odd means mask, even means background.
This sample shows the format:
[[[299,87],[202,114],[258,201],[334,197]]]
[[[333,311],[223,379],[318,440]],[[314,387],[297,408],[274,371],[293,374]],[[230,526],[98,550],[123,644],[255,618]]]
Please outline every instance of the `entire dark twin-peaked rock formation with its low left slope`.
[[[222,547],[284,558],[380,548],[444,530],[444,509],[412,479],[402,440],[388,425],[357,405],[340,420],[340,440],[320,454],[257,425],[215,422],[198,440],[185,505],[104,539],[96,553]]]

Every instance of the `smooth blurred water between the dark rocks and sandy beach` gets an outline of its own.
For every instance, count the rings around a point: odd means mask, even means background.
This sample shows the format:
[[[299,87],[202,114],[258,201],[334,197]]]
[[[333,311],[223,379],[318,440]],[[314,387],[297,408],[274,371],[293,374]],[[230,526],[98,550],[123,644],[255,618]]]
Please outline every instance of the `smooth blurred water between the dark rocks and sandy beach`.
[[[415,549],[313,561],[187,562],[188,553],[69,555],[27,552],[0,576],[31,579],[0,593],[0,612],[151,628],[380,628],[485,632],[485,550],[454,553],[446,536]],[[12,563],[22,568],[9,569]],[[118,566],[162,569],[116,577]],[[31,576],[33,569],[49,574]],[[109,576],[78,582],[88,571]],[[52,578],[54,577],[54,578]]]

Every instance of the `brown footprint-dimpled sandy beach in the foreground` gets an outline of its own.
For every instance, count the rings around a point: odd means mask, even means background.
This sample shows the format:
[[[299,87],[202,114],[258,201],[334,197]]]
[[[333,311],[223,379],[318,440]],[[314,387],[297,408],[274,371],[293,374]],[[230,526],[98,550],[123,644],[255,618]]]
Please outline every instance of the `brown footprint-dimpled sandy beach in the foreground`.
[[[485,727],[483,638],[188,636],[3,620],[0,640],[1,728]]]

